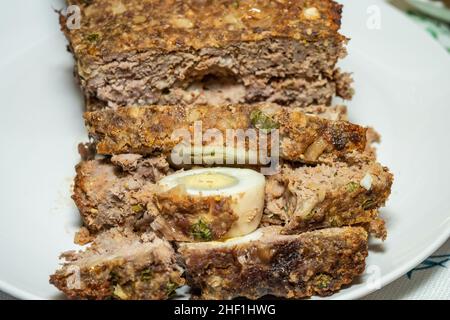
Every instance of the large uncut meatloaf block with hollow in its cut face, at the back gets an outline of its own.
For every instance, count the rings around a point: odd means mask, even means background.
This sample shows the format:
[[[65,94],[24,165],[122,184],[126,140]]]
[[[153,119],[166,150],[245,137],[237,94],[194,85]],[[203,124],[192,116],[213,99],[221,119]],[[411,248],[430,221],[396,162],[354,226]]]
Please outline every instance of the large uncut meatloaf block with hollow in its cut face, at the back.
[[[93,109],[148,104],[271,101],[329,104],[350,98],[330,0],[68,0],[81,27],[61,26]]]

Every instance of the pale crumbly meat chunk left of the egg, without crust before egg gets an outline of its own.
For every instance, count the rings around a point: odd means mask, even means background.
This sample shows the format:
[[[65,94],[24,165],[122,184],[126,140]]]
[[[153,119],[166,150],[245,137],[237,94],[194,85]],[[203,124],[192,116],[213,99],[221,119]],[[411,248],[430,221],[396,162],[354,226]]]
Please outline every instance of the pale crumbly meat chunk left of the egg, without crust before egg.
[[[154,183],[172,172],[163,157],[139,157],[120,155],[83,161],[76,167],[72,198],[90,232],[134,226],[144,214]]]

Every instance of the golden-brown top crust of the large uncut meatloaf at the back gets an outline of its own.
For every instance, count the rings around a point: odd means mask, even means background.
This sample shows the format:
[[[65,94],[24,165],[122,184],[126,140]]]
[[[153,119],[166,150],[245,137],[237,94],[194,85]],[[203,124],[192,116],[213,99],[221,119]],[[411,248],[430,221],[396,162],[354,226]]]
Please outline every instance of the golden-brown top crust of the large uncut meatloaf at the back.
[[[124,52],[217,48],[291,38],[343,42],[342,5],[329,0],[68,0],[81,8],[81,29],[62,30],[76,56],[97,60]],[[120,4],[120,5],[119,5]],[[319,15],[305,14],[316,8]],[[92,35],[98,35],[95,38]]]

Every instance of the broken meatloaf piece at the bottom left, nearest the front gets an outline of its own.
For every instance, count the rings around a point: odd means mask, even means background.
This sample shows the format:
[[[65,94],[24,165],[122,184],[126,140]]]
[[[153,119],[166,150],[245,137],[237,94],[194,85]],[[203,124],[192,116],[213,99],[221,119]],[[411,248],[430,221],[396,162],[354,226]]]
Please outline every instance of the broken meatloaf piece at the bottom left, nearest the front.
[[[62,257],[50,283],[71,299],[167,299],[184,284],[174,250],[154,233],[111,229],[86,250]]]

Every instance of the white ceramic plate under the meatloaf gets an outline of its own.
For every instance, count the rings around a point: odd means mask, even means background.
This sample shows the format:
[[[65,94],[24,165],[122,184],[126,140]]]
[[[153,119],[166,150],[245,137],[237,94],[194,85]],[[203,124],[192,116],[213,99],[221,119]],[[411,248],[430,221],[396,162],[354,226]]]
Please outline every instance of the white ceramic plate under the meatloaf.
[[[333,296],[354,299],[449,237],[450,56],[383,1],[342,2],[352,38],[343,67],[357,91],[351,117],[382,133],[380,161],[395,173],[383,210],[388,240],[371,245],[369,272]],[[0,290],[18,298],[61,297],[48,276],[58,255],[76,248],[79,226],[70,189],[76,146],[86,140],[83,105],[51,5],[63,2],[8,1],[0,11]],[[368,28],[378,16],[381,29]]]

